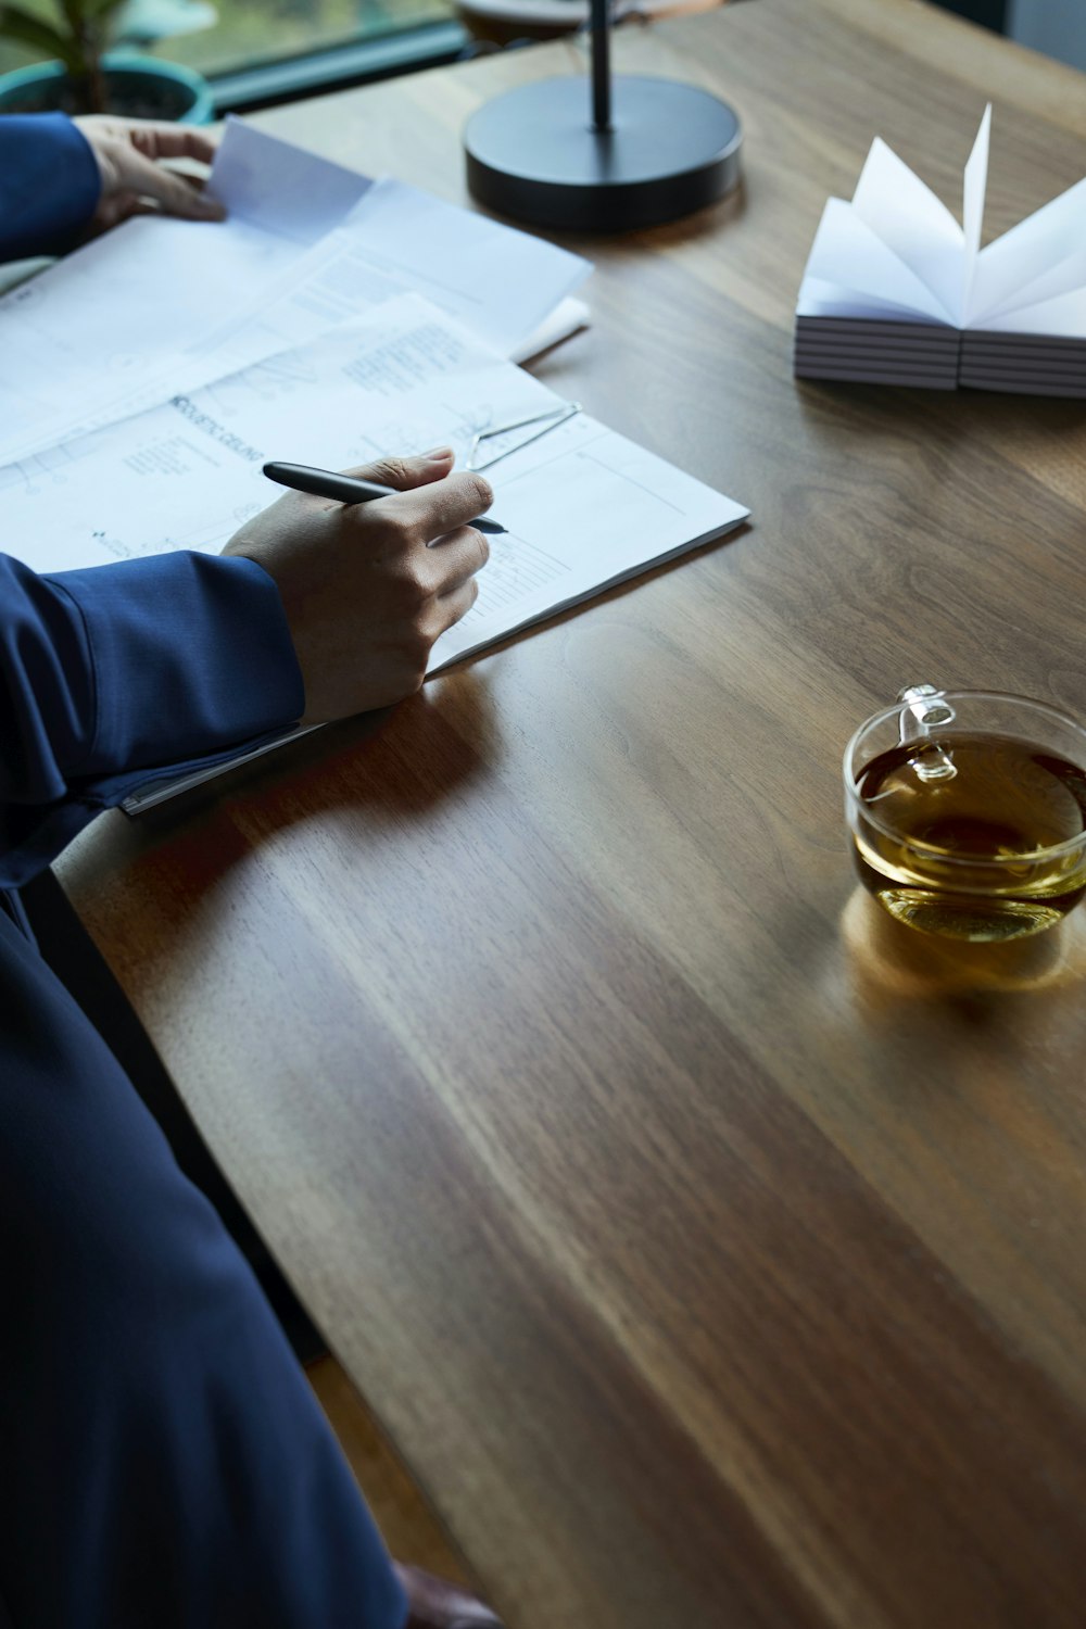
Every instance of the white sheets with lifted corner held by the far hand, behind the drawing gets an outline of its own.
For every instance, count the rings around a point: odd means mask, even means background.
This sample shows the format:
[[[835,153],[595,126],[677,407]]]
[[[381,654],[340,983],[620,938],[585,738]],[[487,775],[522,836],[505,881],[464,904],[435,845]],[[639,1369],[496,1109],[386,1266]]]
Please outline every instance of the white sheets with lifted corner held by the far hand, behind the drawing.
[[[236,119],[210,186],[226,222],[130,220],[0,300],[0,464],[200,389],[396,293],[423,292],[524,355],[591,269]]]

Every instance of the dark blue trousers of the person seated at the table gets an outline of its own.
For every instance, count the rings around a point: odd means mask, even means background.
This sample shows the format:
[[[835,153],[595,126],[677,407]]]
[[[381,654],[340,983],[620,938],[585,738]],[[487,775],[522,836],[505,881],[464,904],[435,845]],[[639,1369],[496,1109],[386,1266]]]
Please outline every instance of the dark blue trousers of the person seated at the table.
[[[2,1629],[402,1629],[249,1266],[3,909],[0,1295]]]

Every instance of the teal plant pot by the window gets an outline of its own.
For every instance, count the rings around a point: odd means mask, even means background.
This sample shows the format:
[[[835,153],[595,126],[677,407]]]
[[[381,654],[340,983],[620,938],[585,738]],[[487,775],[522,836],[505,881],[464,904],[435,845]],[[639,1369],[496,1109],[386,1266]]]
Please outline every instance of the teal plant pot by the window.
[[[103,68],[109,112],[181,124],[210,124],[215,117],[212,86],[179,62],[111,52],[103,57]],[[36,62],[0,73],[0,112],[72,112],[67,83],[62,62]]]

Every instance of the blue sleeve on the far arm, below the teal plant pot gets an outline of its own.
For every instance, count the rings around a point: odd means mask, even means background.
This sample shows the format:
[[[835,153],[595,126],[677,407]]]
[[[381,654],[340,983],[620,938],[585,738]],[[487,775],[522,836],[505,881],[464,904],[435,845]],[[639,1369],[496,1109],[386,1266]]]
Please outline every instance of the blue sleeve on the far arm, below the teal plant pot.
[[[0,261],[63,254],[99,195],[98,163],[70,119],[0,116]]]

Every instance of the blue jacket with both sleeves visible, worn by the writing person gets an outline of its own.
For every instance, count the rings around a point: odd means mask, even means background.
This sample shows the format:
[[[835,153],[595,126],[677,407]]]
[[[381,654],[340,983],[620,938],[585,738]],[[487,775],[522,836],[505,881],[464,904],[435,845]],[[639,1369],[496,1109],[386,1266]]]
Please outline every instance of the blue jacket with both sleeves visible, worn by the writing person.
[[[68,119],[0,117],[0,261],[73,241],[98,195]],[[24,1072],[28,1038],[42,1057],[57,1036],[78,1052],[86,1028],[31,966],[20,885],[155,769],[230,757],[303,710],[278,590],[252,560],[179,552],[39,577],[0,552],[0,1080]],[[39,994],[18,1034],[5,1013],[26,1008],[28,977]]]

